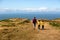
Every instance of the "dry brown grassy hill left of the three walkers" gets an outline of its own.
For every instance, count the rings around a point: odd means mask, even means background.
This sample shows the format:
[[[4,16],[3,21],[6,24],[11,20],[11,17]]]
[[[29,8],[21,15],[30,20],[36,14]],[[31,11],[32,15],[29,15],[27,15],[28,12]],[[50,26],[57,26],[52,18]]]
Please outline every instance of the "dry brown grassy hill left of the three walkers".
[[[31,40],[34,35],[27,29],[30,22],[24,18],[0,20],[0,40]]]

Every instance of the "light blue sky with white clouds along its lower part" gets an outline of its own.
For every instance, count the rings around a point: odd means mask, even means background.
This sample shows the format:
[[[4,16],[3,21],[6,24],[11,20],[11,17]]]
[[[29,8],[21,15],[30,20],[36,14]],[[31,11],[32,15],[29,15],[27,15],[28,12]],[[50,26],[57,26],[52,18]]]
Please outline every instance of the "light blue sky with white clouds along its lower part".
[[[0,11],[60,11],[60,0],[0,0]]]

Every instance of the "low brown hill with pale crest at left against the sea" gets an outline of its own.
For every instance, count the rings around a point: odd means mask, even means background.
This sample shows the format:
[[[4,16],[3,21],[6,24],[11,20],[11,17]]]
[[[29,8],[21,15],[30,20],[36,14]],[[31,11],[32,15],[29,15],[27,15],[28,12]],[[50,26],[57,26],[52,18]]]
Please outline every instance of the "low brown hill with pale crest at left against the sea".
[[[21,24],[29,23],[29,19],[25,18],[11,18],[0,20],[0,27],[16,27]]]

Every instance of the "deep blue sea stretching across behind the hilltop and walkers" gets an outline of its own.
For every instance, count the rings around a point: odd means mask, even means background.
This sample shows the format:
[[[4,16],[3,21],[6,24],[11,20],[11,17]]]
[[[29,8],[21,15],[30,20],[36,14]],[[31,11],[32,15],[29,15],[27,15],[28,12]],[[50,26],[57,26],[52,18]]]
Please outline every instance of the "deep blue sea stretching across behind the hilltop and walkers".
[[[7,13],[7,14],[0,14],[0,20],[3,19],[9,19],[9,18],[27,18],[27,19],[33,19],[34,17],[36,17],[37,19],[56,19],[56,18],[60,18],[60,13],[56,13],[56,14],[49,14],[49,13],[43,13],[43,14],[39,14],[39,13]]]

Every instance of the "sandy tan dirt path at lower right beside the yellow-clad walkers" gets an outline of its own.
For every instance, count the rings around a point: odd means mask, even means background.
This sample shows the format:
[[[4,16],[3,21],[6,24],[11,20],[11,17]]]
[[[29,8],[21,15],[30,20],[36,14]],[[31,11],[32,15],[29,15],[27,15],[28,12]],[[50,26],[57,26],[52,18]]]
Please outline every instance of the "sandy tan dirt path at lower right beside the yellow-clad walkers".
[[[37,40],[60,40],[60,31],[45,23],[45,30],[36,34]]]

